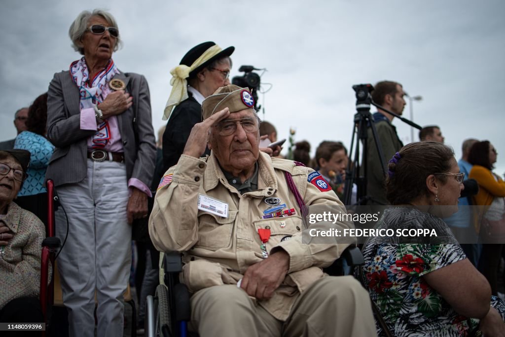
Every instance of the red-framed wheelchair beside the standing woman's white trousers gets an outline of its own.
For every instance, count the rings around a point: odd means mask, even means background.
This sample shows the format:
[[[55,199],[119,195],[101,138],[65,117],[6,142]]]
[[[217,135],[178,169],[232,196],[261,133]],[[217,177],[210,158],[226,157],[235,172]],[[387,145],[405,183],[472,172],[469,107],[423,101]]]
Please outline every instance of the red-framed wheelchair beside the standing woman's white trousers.
[[[47,188],[47,237],[42,241],[42,255],[40,266],[40,307],[44,315],[46,329],[42,332],[45,336],[48,331],[51,331],[51,319],[53,314],[53,306],[63,306],[63,294],[60,286],[60,275],[56,269],[57,252],[61,248],[60,238],[55,236],[55,211],[60,206],[59,198],[55,194],[54,182],[48,179],[46,182]],[[51,272],[51,277],[49,277]],[[136,336],[137,314],[135,302],[132,299],[130,286],[128,284],[127,291],[124,294],[124,302],[131,306],[131,331],[130,335]]]

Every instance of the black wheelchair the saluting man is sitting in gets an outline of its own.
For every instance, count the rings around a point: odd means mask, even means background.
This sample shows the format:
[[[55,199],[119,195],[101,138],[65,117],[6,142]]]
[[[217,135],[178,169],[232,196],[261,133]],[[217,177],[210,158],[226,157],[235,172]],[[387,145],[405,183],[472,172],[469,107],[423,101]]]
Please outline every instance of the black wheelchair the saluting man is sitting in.
[[[345,261],[345,262],[344,262]],[[190,295],[186,285],[179,283],[182,259],[178,252],[166,252],[163,258],[164,283],[156,288],[155,296],[147,296],[145,335],[147,337],[197,337],[187,331],[191,319]],[[342,256],[323,271],[332,276],[345,275],[345,264],[353,268],[365,264],[357,246],[347,247]]]

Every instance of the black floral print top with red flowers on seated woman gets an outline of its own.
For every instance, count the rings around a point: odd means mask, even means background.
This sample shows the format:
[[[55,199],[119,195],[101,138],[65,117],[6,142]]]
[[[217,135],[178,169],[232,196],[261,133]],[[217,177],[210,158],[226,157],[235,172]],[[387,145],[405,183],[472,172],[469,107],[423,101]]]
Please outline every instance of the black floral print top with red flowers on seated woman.
[[[458,314],[422,277],[466,258],[443,220],[414,208],[396,207],[384,212],[376,228],[435,228],[444,237],[422,244],[371,237],[365,243],[363,281],[389,330],[395,336],[444,337],[477,330],[478,319]],[[503,301],[493,297],[491,306],[505,317]],[[379,324],[377,332],[384,335]]]

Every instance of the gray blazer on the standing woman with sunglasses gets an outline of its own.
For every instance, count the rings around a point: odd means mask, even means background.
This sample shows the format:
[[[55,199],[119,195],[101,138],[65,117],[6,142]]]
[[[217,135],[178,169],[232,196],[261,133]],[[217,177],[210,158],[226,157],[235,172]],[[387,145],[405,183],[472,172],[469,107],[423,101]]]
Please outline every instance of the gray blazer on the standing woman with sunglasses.
[[[149,87],[142,75],[121,72],[114,78],[124,81],[133,97],[133,105],[117,116],[126,175],[149,187],[156,163]],[[55,74],[47,94],[47,138],[56,149],[45,177],[56,186],[82,181],[87,170],[87,140],[95,131],[80,129],[79,88],[70,72],[62,71]]]

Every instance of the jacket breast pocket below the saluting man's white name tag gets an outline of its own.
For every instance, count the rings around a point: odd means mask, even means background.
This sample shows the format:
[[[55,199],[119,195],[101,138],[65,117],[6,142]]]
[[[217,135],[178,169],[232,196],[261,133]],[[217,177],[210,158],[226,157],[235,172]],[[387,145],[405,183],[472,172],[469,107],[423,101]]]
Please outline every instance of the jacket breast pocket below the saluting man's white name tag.
[[[198,242],[195,248],[217,251],[230,247],[237,213],[237,210],[229,210],[228,217],[223,218],[198,211]]]

